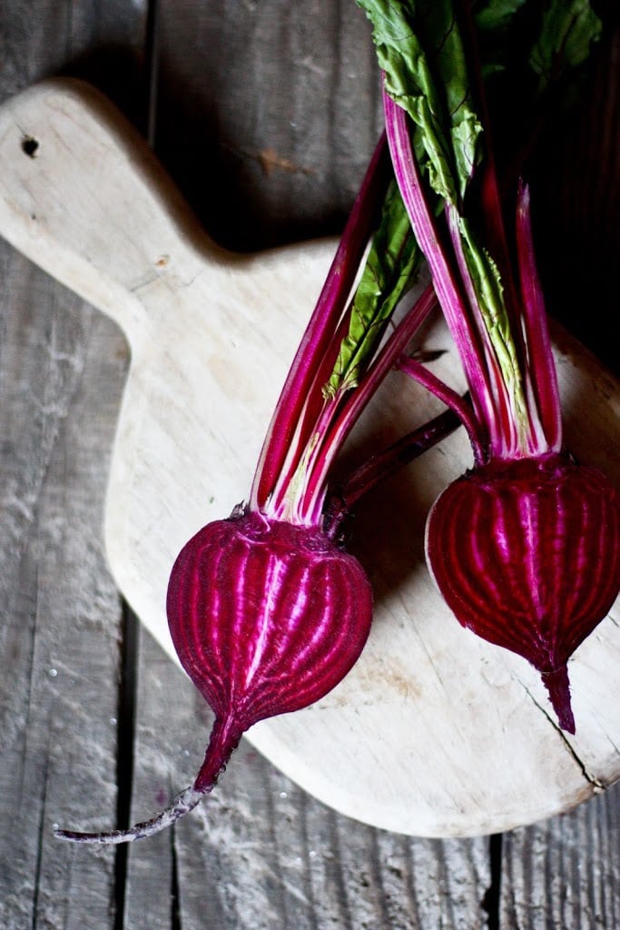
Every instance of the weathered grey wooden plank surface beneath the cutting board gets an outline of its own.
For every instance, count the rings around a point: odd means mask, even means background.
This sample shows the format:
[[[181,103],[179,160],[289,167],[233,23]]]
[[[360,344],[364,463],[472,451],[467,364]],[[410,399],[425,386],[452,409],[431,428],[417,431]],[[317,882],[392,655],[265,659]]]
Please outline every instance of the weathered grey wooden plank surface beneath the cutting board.
[[[551,310],[618,373],[611,27],[535,196]],[[337,232],[379,128],[353,0],[2,0],[0,102],[56,73],[107,93],[238,249]],[[129,849],[55,841],[54,822],[123,825],[134,799],[187,784],[209,718],[102,551],[124,338],[3,242],[0,327],[0,926],[620,926],[620,785],[503,836],[411,839],[337,816],[242,745],[176,829]]]

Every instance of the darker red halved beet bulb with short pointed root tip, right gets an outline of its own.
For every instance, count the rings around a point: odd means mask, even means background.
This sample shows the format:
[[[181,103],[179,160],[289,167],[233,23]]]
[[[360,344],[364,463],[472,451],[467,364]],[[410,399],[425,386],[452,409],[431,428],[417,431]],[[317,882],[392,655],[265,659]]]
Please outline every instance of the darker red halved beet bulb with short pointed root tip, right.
[[[618,495],[561,455],[494,461],[435,502],[427,558],[455,617],[541,672],[574,733],[566,663],[620,587]]]

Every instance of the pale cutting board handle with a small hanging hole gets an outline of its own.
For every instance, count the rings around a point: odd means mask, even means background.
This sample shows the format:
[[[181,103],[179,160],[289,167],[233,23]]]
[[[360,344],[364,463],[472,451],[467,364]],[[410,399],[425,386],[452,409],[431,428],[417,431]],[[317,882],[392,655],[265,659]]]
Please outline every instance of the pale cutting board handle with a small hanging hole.
[[[94,87],[35,85],[0,107],[0,230],[125,329],[144,289],[239,259],[216,246],[146,142]],[[152,301],[151,301],[152,303]]]

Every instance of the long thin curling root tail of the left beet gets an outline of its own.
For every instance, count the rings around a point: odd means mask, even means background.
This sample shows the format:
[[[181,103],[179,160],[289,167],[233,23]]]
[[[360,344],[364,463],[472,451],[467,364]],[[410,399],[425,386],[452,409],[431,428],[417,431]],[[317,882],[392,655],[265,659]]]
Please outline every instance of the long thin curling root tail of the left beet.
[[[226,768],[232,752],[239,745],[243,729],[233,724],[229,717],[216,720],[213,724],[209,743],[204,753],[204,762],[193,785],[182,790],[175,800],[163,811],[150,820],[142,820],[128,830],[111,830],[110,832],[88,833],[78,830],[54,830],[58,840],[70,843],[90,843],[100,845],[118,845],[145,840],[155,833],[166,830],[185,817],[196,807],[205,794],[215,788],[218,777]]]

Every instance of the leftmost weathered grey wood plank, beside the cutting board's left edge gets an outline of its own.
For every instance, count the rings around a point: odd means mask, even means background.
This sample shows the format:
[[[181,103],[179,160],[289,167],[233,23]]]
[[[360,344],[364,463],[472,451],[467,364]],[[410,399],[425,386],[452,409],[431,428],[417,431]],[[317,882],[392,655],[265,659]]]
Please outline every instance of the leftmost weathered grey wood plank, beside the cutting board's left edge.
[[[92,73],[102,44],[139,67],[143,33],[139,4],[6,0],[0,100]],[[0,924],[105,930],[114,855],[75,855],[52,824],[115,806],[121,605],[100,524],[126,344],[4,243],[0,327]]]

